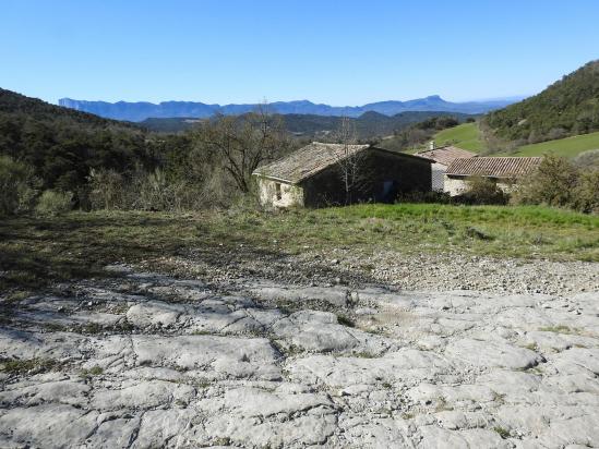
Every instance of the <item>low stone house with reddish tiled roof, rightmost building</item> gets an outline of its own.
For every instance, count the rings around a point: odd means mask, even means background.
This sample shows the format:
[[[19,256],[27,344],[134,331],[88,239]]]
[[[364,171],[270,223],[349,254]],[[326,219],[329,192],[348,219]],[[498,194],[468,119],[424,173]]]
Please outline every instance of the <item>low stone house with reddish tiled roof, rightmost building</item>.
[[[483,177],[493,180],[506,193],[518,181],[534,173],[541,157],[471,157],[455,159],[445,171],[444,191],[452,196],[468,191],[468,179]]]

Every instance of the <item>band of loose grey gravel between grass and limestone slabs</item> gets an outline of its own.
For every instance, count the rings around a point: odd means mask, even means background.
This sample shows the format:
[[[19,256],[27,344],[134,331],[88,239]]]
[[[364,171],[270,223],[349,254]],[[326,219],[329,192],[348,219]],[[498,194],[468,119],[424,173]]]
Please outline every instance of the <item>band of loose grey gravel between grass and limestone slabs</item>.
[[[359,254],[337,248],[299,255],[239,251],[214,254],[191,250],[179,257],[147,262],[180,276],[215,283],[245,278],[308,286],[359,287],[383,283],[407,290],[477,290],[498,293],[571,294],[599,290],[599,263],[493,258],[458,254]]]

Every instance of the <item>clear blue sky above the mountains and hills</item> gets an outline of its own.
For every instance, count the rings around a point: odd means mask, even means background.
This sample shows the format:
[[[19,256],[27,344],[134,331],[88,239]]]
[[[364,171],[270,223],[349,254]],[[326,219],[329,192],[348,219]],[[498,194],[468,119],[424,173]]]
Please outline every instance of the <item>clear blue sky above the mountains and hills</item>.
[[[597,0],[0,0],[0,87],[331,105],[530,95],[599,58]]]

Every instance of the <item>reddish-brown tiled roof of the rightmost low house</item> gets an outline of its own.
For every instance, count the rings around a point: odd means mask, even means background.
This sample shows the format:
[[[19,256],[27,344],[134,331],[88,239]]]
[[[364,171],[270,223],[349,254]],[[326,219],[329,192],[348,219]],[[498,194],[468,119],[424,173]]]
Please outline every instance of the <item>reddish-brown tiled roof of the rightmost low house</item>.
[[[540,157],[472,157],[455,159],[445,174],[458,177],[520,178],[534,172]]]

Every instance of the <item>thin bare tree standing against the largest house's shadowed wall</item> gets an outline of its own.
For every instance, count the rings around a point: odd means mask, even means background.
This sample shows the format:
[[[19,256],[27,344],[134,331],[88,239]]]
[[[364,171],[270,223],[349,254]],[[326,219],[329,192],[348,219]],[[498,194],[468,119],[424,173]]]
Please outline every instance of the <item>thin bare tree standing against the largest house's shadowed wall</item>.
[[[355,123],[347,117],[342,118],[339,128],[334,133],[334,142],[340,145],[332,149],[339,177],[345,190],[345,204],[351,204],[354,194],[366,186],[368,173],[366,169],[366,153],[358,150],[358,137]]]

